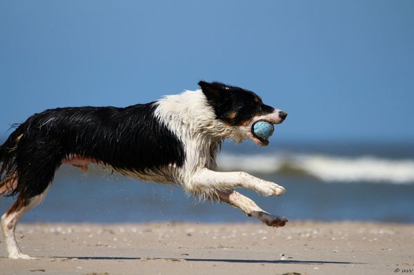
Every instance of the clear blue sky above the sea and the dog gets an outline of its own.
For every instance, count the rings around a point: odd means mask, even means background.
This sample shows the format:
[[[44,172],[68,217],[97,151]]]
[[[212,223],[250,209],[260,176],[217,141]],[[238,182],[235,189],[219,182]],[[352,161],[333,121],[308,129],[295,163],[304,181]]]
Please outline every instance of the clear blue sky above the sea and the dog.
[[[46,108],[239,85],[282,141],[414,141],[414,1],[1,1],[0,137]]]

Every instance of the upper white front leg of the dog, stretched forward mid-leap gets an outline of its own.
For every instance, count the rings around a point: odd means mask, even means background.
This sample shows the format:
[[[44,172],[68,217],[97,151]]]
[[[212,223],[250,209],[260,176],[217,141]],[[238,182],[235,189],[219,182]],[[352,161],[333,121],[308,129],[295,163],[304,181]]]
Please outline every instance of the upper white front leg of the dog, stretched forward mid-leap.
[[[201,193],[228,191],[239,187],[255,190],[264,196],[279,196],[286,192],[284,187],[256,178],[246,172],[216,172],[206,168],[193,176],[190,185],[190,189]]]

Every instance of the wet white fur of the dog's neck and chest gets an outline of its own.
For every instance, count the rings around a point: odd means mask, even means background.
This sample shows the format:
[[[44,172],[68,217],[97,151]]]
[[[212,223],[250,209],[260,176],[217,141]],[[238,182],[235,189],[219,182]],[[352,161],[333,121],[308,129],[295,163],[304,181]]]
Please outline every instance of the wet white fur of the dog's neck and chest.
[[[216,119],[213,108],[201,90],[165,96],[155,103],[155,116],[184,144],[186,160],[181,184],[203,167],[215,169],[215,158],[225,138],[242,141],[239,128]]]

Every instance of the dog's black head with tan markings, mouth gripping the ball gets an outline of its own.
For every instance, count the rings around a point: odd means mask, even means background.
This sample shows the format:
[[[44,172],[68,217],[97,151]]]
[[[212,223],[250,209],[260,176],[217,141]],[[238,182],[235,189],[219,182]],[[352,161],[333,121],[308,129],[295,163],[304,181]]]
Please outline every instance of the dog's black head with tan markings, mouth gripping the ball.
[[[216,118],[226,125],[241,128],[242,139],[251,139],[258,145],[268,145],[268,139],[261,138],[253,132],[257,121],[279,124],[286,119],[286,112],[270,107],[262,102],[254,92],[224,83],[207,83],[199,85],[208,103],[213,107]]]

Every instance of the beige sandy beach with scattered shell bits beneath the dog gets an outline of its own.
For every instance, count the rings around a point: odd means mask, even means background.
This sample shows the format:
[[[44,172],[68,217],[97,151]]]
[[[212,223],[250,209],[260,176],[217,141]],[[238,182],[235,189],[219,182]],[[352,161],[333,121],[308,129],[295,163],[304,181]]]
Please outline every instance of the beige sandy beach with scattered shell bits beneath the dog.
[[[414,225],[23,224],[0,274],[414,274]],[[411,272],[410,272],[411,270]]]

